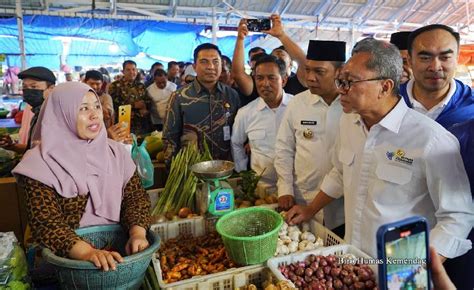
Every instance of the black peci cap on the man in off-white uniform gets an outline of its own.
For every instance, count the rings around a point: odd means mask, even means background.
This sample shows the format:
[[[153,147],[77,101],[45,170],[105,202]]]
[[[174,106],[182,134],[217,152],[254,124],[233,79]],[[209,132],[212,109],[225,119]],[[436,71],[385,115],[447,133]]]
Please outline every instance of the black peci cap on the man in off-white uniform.
[[[306,58],[322,61],[346,61],[344,41],[310,40]]]

